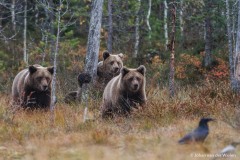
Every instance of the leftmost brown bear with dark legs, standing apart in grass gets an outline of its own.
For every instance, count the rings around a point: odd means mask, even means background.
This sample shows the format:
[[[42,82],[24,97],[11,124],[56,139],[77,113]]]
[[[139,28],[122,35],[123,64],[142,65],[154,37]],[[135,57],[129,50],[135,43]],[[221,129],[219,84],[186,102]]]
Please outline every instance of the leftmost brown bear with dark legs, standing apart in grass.
[[[13,80],[13,106],[47,108],[51,103],[54,67],[35,64],[19,72]]]

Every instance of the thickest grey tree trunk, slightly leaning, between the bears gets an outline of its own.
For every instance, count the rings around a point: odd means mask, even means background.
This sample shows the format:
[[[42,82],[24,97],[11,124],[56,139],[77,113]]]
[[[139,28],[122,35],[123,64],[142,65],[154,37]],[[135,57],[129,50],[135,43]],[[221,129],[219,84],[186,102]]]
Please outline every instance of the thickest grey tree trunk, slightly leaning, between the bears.
[[[94,0],[92,2],[92,11],[90,19],[90,27],[88,33],[88,43],[87,43],[87,55],[85,60],[84,72],[89,73],[96,80],[97,76],[97,64],[98,64],[98,54],[100,48],[100,29],[102,22],[102,11],[103,11],[103,0]],[[82,102],[86,102],[84,111],[84,122],[87,120],[87,98],[88,98],[88,85],[84,84],[82,86],[82,95],[78,95]]]

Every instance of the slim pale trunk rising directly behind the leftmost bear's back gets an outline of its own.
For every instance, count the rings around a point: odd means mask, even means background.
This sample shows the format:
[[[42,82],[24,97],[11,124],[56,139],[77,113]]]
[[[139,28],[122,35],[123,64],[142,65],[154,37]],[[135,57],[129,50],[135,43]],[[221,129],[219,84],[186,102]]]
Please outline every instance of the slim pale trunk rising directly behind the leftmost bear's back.
[[[27,0],[24,0],[23,60],[28,65],[28,55],[27,55]]]

